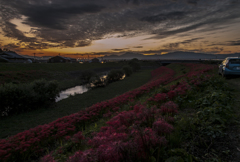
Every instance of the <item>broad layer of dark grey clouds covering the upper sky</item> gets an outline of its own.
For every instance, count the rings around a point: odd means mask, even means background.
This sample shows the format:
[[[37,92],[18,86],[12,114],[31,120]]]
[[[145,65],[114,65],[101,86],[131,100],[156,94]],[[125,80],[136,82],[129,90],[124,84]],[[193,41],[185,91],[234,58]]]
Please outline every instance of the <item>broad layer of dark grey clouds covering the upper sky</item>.
[[[84,47],[116,33],[125,38],[154,33],[149,39],[196,30],[217,33],[240,17],[239,7],[236,0],[0,0],[0,26],[5,36],[25,42],[25,48]],[[10,22],[22,16],[35,38]],[[191,40],[172,46],[187,43]]]

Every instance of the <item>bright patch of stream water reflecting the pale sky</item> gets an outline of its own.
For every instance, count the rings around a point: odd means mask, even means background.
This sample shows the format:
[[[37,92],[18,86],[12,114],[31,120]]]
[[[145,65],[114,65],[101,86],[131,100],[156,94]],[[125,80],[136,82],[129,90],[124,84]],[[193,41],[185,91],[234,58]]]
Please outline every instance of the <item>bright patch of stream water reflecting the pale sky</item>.
[[[62,99],[68,98],[70,95],[82,94],[87,91],[88,91],[88,88],[85,85],[69,88],[60,93],[59,97],[56,98],[56,102],[58,102]]]

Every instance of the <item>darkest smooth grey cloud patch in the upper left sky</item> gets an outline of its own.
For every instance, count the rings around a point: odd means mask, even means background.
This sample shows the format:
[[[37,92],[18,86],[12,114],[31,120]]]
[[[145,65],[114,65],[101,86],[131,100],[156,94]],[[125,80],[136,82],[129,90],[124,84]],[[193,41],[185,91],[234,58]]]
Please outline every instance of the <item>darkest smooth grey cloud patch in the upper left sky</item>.
[[[35,26],[51,29],[66,29],[65,21],[74,15],[97,13],[104,7],[94,4],[80,6],[27,6],[20,9],[20,13],[27,16],[27,21]]]

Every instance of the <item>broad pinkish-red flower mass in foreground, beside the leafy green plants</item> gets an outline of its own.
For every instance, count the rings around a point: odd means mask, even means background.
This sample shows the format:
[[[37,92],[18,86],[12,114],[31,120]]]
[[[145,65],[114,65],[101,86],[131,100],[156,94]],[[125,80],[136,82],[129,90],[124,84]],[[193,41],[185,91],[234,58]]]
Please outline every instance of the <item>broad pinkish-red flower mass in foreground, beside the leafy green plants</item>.
[[[195,70],[195,68],[193,69]],[[200,75],[203,71],[206,72],[210,69],[198,72],[191,71],[187,76]],[[198,80],[200,84],[208,77],[192,77],[190,81],[192,83]],[[186,81],[182,81],[180,84],[172,86],[168,93],[157,94],[152,100],[164,102],[167,98],[173,99],[177,95],[185,95],[191,88],[192,86]],[[165,119],[173,122],[173,118],[169,115],[177,112],[178,106],[172,101],[163,104],[160,109],[135,105],[133,110],[120,112],[108,121],[108,126],[102,127],[101,131],[88,141],[92,148],[84,152],[77,151],[73,156],[69,157],[68,162],[117,162],[123,160],[132,161],[138,158],[145,159],[149,155],[148,150],[166,145],[167,141],[164,135],[170,134],[173,127],[163,119],[163,116],[168,114]]]

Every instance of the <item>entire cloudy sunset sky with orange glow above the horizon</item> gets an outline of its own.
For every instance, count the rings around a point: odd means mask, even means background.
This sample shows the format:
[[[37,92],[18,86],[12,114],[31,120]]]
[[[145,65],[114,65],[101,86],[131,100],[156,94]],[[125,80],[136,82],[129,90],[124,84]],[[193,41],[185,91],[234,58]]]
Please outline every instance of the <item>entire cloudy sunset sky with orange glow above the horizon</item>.
[[[240,53],[240,0],[0,0],[0,47],[39,57]]]

